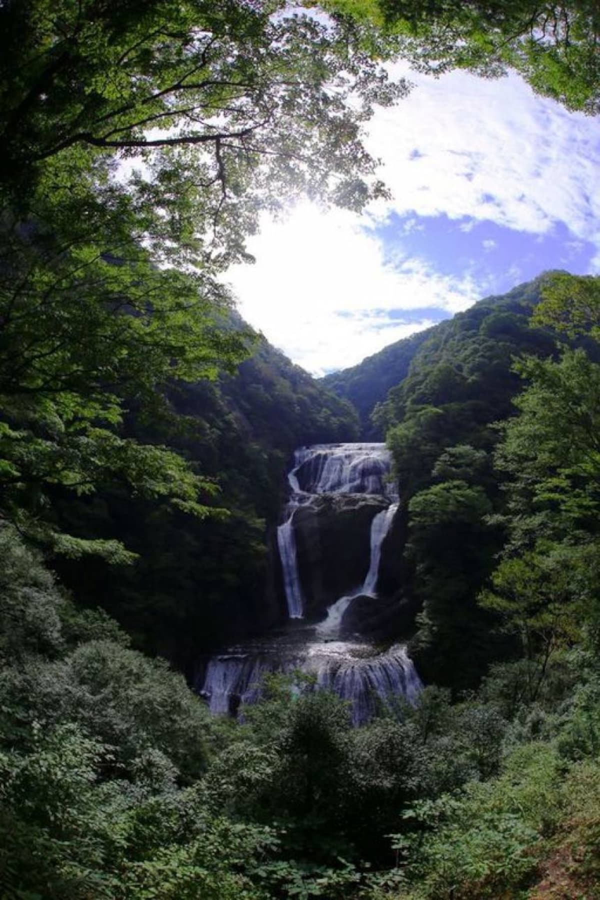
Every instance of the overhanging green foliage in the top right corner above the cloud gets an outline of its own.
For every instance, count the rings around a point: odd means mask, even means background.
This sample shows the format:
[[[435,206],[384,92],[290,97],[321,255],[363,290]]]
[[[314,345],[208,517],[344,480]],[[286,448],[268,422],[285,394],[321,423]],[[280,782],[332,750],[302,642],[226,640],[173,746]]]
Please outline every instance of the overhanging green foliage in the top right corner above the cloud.
[[[494,77],[515,69],[568,109],[600,112],[596,0],[329,0],[387,26],[419,70],[461,67]]]

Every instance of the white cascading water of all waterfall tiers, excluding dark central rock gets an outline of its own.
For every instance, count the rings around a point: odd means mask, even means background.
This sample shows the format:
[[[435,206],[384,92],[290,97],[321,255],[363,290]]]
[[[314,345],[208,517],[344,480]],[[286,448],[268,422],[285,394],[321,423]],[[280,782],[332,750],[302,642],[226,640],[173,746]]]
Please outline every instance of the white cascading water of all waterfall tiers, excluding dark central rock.
[[[378,703],[390,697],[415,701],[422,684],[403,646],[380,653],[360,638],[352,642],[339,639],[345,613],[354,599],[377,598],[381,548],[398,509],[389,473],[390,454],[383,444],[321,444],[296,451],[288,474],[291,497],[277,530],[291,619],[301,619],[306,610],[295,535],[297,510],[310,506],[322,494],[370,494],[388,500],[390,505],[380,508],[372,518],[370,563],[363,585],[331,604],[324,621],[317,626],[299,623],[292,632],[283,631],[210,659],[197,687],[212,712],[237,712],[238,707],[259,698],[264,674],[298,668],[314,673],[318,687],[333,690],[347,700],[355,725],[368,721]],[[360,500],[363,509],[367,502],[372,506],[375,501]]]

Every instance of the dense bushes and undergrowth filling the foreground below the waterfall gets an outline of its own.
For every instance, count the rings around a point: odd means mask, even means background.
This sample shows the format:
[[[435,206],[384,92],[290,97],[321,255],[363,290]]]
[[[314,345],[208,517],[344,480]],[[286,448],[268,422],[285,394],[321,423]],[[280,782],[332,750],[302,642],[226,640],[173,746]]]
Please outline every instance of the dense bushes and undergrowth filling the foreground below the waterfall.
[[[4,896],[597,896],[600,674],[583,572],[568,598],[561,582],[571,627],[546,658],[556,598],[527,608],[524,561],[521,602],[502,614],[533,636],[530,654],[459,703],[430,687],[353,729],[342,701],[283,680],[237,724],[78,611],[18,536],[3,542]]]

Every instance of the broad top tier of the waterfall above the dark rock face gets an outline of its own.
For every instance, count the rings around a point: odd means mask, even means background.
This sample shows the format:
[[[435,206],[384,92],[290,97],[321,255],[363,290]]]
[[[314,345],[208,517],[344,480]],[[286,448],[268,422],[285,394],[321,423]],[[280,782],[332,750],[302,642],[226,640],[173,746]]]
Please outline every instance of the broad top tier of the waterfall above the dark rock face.
[[[316,444],[296,451],[289,482],[297,494],[393,497],[390,470],[390,451],[385,444]]]

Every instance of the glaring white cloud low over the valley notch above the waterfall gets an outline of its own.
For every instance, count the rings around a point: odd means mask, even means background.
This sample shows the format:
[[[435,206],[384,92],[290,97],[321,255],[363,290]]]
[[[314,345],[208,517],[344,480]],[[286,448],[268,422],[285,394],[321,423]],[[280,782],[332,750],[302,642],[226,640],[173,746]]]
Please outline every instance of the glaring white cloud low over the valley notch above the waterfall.
[[[354,365],[432,324],[390,320],[390,310],[455,312],[479,297],[469,275],[438,275],[419,259],[386,262],[381,241],[344,211],[300,206],[287,220],[265,221],[250,250],[258,264],[228,273],[239,311],[315,374]]]

